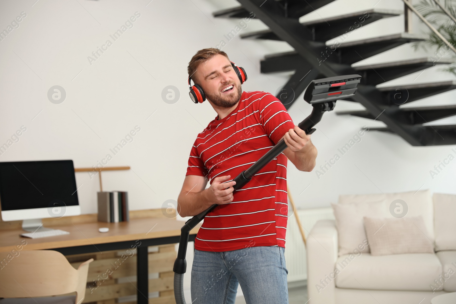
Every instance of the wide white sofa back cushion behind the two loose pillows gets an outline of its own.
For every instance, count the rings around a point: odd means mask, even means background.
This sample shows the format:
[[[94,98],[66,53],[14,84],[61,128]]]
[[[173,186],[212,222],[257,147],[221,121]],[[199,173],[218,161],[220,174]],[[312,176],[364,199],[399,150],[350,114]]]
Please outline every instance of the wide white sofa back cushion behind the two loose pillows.
[[[393,218],[389,212],[389,208],[391,203],[398,199],[405,201],[407,204],[408,211],[406,216],[423,216],[428,232],[427,236],[431,242],[434,242],[434,207],[430,190],[385,194],[340,195],[338,203],[382,202],[388,216]]]

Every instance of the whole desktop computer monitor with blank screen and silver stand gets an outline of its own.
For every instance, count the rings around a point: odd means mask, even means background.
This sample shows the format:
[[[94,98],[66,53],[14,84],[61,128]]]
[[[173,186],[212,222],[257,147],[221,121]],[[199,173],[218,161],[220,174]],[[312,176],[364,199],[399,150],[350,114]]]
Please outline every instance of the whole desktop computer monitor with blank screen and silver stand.
[[[42,218],[80,215],[73,160],[0,162],[0,204],[3,221],[31,232],[50,230]]]

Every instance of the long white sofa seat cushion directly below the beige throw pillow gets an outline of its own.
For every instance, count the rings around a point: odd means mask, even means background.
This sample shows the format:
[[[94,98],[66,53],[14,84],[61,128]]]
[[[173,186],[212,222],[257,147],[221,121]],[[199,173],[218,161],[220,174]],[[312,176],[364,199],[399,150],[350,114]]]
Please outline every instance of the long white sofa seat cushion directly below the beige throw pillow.
[[[430,291],[430,284],[442,273],[434,253],[372,256],[360,252],[339,257],[335,267],[336,287],[352,289]]]

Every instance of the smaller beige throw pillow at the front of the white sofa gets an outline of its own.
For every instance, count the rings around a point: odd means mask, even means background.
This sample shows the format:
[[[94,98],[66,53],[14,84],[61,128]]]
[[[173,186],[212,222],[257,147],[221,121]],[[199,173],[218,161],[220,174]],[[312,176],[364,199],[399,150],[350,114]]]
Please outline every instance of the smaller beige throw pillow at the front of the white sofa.
[[[364,216],[364,227],[373,256],[429,252],[434,253],[434,244],[426,236],[422,216],[403,218],[380,218]]]

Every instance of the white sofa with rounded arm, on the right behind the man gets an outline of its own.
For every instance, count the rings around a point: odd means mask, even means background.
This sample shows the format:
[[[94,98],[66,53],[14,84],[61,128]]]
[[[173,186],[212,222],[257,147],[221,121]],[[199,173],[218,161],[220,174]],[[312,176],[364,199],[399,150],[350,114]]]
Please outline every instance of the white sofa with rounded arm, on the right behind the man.
[[[430,304],[456,291],[456,195],[342,195],[338,204],[383,201],[388,210],[396,199],[407,203],[407,216],[423,216],[435,253],[339,255],[336,222],[318,221],[306,248],[309,304]]]

